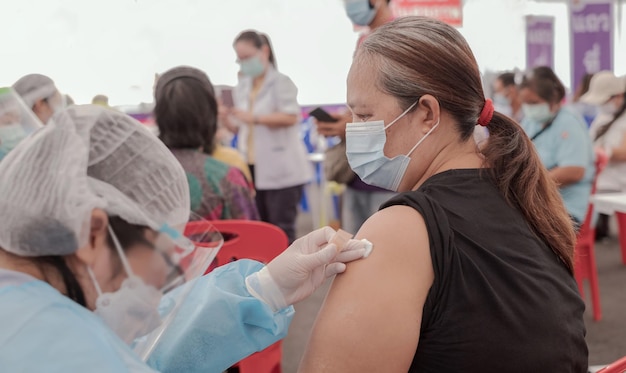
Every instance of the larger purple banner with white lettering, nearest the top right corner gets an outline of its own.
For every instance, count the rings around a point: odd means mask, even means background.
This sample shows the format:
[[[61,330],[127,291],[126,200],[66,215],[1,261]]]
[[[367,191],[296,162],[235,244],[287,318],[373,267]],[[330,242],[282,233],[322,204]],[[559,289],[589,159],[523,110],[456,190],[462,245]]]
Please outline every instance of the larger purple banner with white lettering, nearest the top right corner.
[[[572,91],[585,74],[613,70],[614,0],[573,0],[570,4]]]

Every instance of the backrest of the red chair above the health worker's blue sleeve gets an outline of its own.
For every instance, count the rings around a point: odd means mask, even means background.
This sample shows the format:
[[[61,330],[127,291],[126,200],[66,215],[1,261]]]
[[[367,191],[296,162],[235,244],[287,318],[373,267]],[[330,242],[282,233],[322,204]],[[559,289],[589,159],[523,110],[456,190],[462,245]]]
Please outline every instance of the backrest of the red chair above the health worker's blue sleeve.
[[[273,224],[254,220],[212,220],[209,223],[224,236],[224,246],[216,257],[217,266],[237,259],[269,263],[289,246],[285,232]],[[189,222],[186,231],[201,229],[203,224],[206,223]]]

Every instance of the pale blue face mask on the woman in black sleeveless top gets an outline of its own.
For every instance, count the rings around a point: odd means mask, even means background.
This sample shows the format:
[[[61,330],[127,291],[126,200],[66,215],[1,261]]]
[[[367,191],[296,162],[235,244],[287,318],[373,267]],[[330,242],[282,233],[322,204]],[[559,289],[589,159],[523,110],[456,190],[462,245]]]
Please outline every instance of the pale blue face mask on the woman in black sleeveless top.
[[[411,153],[439,126],[439,121],[406,154],[393,158],[385,156],[386,130],[417,105],[417,101],[385,126],[382,120],[348,123],[346,126],[346,155],[352,170],[369,185],[398,191],[406,173]]]

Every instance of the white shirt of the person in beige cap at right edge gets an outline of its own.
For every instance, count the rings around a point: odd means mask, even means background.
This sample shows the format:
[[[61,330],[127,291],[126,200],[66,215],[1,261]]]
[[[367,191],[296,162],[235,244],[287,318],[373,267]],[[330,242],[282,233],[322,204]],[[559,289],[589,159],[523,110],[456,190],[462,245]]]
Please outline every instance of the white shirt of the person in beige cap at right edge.
[[[596,133],[600,128],[607,124],[613,118],[612,115],[598,114],[591,127],[589,134],[592,139],[596,137]],[[622,114],[611,125],[611,128],[599,139],[594,141],[594,146],[611,149],[622,144],[626,136],[626,115]],[[609,161],[604,171],[598,176],[599,191],[621,191],[626,192],[626,162],[625,161]]]

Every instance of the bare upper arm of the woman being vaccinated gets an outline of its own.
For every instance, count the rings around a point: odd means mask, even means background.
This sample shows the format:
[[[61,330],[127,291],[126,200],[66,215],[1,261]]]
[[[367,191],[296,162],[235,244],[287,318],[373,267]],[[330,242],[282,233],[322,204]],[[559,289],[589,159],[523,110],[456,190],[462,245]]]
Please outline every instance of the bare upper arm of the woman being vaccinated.
[[[406,372],[413,361],[434,279],[424,220],[392,206],[368,219],[357,238],[374,251],[335,278],[299,372]]]

